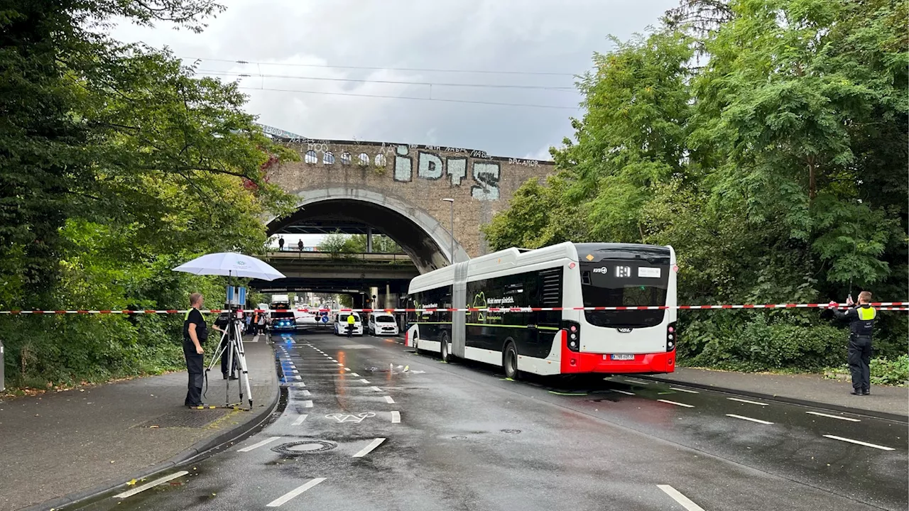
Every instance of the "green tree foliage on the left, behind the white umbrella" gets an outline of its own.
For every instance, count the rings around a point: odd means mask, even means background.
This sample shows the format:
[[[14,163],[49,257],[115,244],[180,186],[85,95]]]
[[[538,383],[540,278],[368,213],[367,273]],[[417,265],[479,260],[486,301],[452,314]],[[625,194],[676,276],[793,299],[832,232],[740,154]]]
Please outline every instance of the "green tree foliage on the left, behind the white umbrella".
[[[261,252],[261,216],[292,202],[267,168],[294,155],[243,111],[235,84],[124,45],[115,18],[199,31],[210,0],[13,0],[0,11],[0,308],[173,308],[220,280],[170,268]],[[220,294],[220,296],[219,296]],[[137,374],[179,358],[172,318],[0,321],[8,373]]]

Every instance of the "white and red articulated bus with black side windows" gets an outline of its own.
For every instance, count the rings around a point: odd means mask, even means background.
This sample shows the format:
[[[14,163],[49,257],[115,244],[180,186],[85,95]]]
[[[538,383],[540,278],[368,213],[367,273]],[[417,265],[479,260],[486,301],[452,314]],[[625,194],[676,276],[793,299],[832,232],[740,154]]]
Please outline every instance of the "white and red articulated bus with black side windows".
[[[672,246],[508,248],[415,277],[408,308],[669,306],[654,310],[407,314],[406,346],[502,366],[505,376],[659,374],[675,364]]]

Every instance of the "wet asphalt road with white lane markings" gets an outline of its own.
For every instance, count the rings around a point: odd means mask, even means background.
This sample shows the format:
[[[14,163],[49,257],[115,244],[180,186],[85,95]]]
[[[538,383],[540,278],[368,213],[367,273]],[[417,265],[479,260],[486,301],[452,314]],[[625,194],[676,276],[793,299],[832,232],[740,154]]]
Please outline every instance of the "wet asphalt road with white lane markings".
[[[903,423],[618,376],[512,382],[400,338],[275,340],[287,400],[272,424],[80,508],[907,507]]]

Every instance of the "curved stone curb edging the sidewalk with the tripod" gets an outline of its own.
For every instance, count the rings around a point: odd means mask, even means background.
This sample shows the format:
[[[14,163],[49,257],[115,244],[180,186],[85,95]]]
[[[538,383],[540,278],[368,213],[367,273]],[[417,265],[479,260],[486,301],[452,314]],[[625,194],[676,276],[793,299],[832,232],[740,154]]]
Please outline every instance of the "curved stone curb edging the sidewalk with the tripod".
[[[271,343],[269,343],[271,344]],[[274,344],[272,344],[272,351],[275,350]],[[258,412],[250,418],[249,420],[238,424],[231,429],[226,430],[218,436],[205,438],[199,440],[193,446],[181,451],[176,456],[165,460],[157,465],[146,467],[145,469],[134,473],[131,476],[112,479],[106,483],[102,483],[91,488],[74,492],[65,496],[58,496],[52,500],[47,500],[40,504],[35,504],[34,506],[23,507],[19,511],[47,511],[49,509],[59,509],[60,507],[73,506],[81,502],[85,502],[95,496],[100,496],[105,494],[119,486],[124,486],[127,482],[133,479],[142,479],[149,476],[154,476],[159,472],[164,472],[175,466],[183,465],[194,458],[204,457],[211,451],[214,451],[220,447],[226,446],[227,444],[234,442],[235,440],[242,438],[244,436],[250,435],[254,432],[256,428],[262,426],[266,420],[272,414],[275,413],[275,409],[278,406],[278,401],[281,396],[281,385],[280,382],[275,384],[275,392],[273,393],[271,403],[262,406],[262,411]]]

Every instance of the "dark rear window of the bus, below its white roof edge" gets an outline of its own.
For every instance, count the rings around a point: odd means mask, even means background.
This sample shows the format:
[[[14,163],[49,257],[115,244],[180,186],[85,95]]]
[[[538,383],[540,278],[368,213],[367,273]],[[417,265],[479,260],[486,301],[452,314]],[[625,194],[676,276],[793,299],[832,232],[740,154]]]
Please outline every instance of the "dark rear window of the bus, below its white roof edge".
[[[581,263],[581,294],[585,307],[664,306],[668,265],[639,260],[604,260]],[[642,327],[663,322],[665,311],[584,311],[595,326]]]

